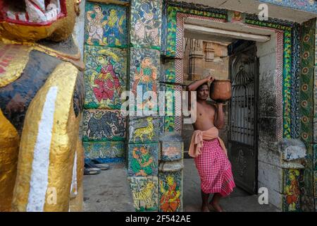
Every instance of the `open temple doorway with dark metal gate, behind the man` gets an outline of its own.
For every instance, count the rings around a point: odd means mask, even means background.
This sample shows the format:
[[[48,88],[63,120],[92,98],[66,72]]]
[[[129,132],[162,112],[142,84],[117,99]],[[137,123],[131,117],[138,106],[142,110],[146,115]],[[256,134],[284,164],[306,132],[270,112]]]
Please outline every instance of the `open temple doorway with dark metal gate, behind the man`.
[[[183,90],[192,81],[209,74],[232,82],[232,99],[224,106],[225,127],[220,130],[220,138],[228,148],[237,187],[230,196],[223,198],[223,208],[228,211],[278,211],[274,200],[268,205],[260,205],[257,195],[258,189],[264,186],[264,179],[272,176],[266,175],[270,166],[258,154],[267,151],[260,150],[258,144],[261,140],[258,118],[263,115],[263,112],[259,113],[258,105],[268,102],[265,96],[259,100],[259,93],[266,95],[268,92],[259,87],[259,83],[274,78],[275,69],[280,66],[277,61],[280,57],[278,34],[256,30],[259,35],[252,35],[254,30],[251,29],[231,34],[228,30],[237,29],[232,24],[209,32],[206,20],[201,23],[195,18],[185,18]],[[208,26],[213,27],[213,22]],[[213,103],[213,100],[209,101]],[[201,205],[199,174],[194,160],[187,154],[193,131],[191,124],[182,124],[185,211],[199,211]]]

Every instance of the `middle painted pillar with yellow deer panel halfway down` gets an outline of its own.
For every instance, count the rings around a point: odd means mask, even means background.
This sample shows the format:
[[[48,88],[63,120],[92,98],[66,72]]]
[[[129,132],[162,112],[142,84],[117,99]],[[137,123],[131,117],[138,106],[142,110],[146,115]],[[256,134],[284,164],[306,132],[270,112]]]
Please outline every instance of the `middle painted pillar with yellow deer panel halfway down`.
[[[162,2],[132,0],[130,5],[129,90],[136,95],[138,112],[128,121],[128,174],[135,209],[157,211],[161,120],[155,100],[161,73]],[[144,114],[146,109],[151,116]]]

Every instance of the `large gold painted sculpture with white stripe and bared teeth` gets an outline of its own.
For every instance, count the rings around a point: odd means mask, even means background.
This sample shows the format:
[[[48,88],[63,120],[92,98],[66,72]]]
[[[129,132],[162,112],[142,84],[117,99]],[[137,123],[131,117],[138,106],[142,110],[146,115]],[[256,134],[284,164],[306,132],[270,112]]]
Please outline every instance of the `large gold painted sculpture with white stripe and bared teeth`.
[[[82,210],[80,0],[0,0],[0,211]]]

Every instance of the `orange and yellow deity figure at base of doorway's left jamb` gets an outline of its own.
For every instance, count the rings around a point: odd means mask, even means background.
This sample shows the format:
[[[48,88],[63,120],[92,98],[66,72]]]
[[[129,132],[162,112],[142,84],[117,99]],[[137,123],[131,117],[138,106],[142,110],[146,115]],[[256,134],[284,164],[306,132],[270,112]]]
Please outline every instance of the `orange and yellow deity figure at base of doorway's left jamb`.
[[[160,181],[161,188],[161,210],[163,212],[175,212],[180,206],[180,191],[177,183],[171,176],[166,177],[166,186]]]

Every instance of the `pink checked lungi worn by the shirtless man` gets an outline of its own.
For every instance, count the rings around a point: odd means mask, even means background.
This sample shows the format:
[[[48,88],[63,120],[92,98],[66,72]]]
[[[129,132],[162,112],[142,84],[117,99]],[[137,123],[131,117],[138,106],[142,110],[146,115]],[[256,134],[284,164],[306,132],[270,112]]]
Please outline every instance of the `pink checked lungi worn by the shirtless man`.
[[[205,194],[219,193],[228,196],[235,187],[231,163],[223,152],[218,138],[203,141],[201,154],[194,157],[201,180],[201,190]]]

